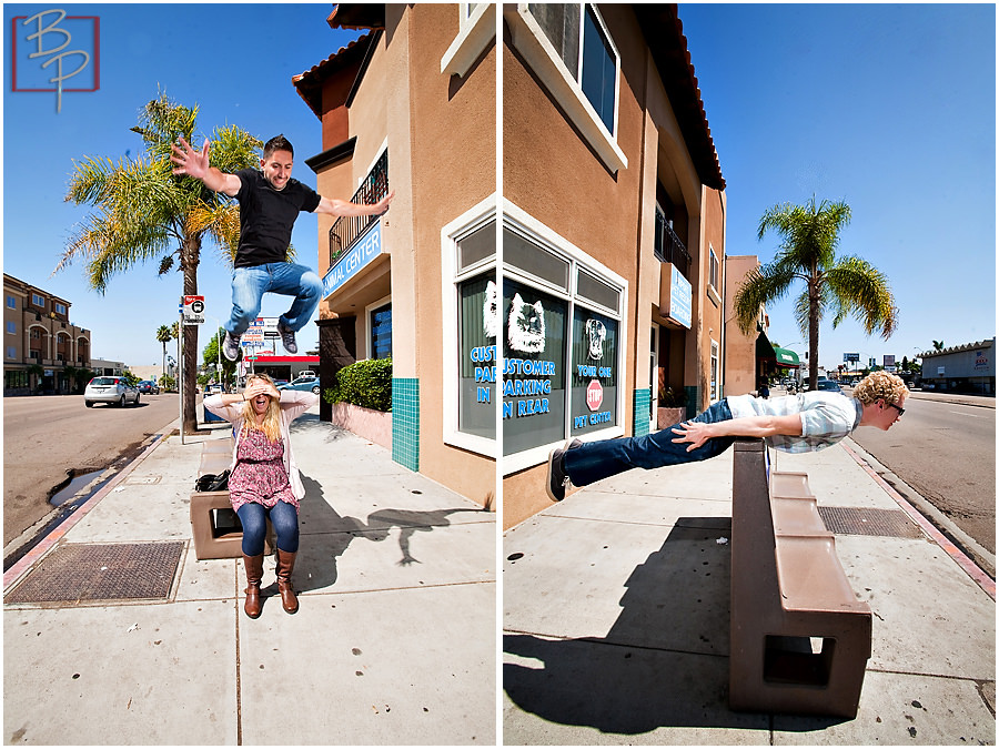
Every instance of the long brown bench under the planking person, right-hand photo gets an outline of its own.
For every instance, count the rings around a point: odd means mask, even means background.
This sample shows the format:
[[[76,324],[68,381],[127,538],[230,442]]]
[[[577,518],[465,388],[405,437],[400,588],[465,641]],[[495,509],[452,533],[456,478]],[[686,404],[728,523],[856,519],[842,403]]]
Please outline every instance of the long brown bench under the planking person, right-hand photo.
[[[808,476],[770,472],[761,439],[736,439],[729,706],[855,718],[871,613],[857,600]]]

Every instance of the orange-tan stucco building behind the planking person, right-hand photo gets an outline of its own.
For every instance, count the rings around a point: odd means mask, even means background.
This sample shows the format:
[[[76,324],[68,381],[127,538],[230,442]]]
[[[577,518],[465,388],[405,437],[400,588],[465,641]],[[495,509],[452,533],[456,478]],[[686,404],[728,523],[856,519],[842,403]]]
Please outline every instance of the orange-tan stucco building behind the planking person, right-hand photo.
[[[503,6],[503,524],[567,438],[722,397],[725,180],[676,6]]]

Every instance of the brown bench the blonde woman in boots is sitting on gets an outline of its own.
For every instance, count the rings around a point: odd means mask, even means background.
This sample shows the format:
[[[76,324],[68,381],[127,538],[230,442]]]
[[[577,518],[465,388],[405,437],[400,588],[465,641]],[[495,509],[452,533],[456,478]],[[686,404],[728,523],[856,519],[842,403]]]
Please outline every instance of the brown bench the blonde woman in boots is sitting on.
[[[221,474],[232,464],[233,441],[202,443],[198,475]],[[243,526],[233,512],[229,492],[191,493],[191,532],[198,559],[239,559],[243,555]],[[274,529],[268,522],[264,554],[274,548]]]

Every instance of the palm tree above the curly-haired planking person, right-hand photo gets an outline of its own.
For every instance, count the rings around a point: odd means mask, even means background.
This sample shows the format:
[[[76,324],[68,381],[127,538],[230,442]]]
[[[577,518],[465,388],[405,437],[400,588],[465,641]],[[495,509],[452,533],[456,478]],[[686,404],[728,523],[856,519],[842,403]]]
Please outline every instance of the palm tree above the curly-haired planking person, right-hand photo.
[[[796,281],[805,282],[795,317],[801,334],[808,336],[811,388],[818,382],[819,323],[827,307],[834,312],[833,327],[851,315],[867,335],[880,331],[888,338],[898,325],[887,276],[860,257],[836,256],[839,232],[849,221],[849,205],[823,201],[816,206],[815,198],[806,205],[787,203],[767,210],[757,239],[774,230],[783,239],[780,249],[773,262],[748,274],[734,300],[739,328],[748,335],[761,305],[786,296]]]

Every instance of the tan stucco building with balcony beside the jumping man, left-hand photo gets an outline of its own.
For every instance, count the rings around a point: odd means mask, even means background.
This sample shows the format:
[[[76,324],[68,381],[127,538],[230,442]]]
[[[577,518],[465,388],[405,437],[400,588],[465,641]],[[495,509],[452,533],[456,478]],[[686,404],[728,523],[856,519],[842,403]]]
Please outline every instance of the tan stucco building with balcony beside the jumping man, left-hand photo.
[[[319,219],[321,382],[391,356],[393,458],[483,506],[497,456],[495,18],[483,3],[340,4],[330,26],[363,34],[294,78],[322,128],[305,160],[317,191],[395,191],[381,219]]]

